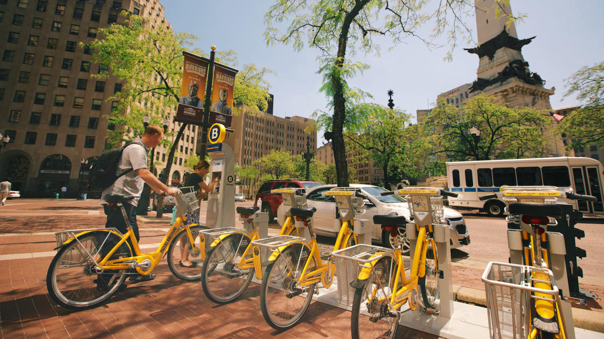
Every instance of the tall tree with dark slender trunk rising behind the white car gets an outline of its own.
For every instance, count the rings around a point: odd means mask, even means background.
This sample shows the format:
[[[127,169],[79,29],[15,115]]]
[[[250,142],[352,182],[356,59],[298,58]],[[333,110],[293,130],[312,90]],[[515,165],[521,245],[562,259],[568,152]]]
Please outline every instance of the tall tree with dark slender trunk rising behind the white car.
[[[339,186],[349,184],[344,129],[347,124],[356,122],[349,116],[347,101],[356,100],[363,94],[350,89],[346,79],[367,69],[366,65],[351,63],[347,52],[354,55],[358,49],[365,54],[379,55],[381,47],[376,38],[381,36],[390,37],[395,45],[407,37],[417,37],[433,46],[431,40],[443,33],[448,33],[453,49],[459,34],[467,39],[471,36],[464,18],[473,11],[474,6],[466,0],[277,0],[269,8],[265,14],[267,43],[291,43],[300,51],[306,42],[320,51],[320,72],[324,76],[322,90],[330,98],[329,108],[333,109],[329,127],[333,132]],[[289,25],[281,33],[275,25],[281,25],[283,21]],[[419,28],[426,22],[431,22],[433,29],[424,39]]]

